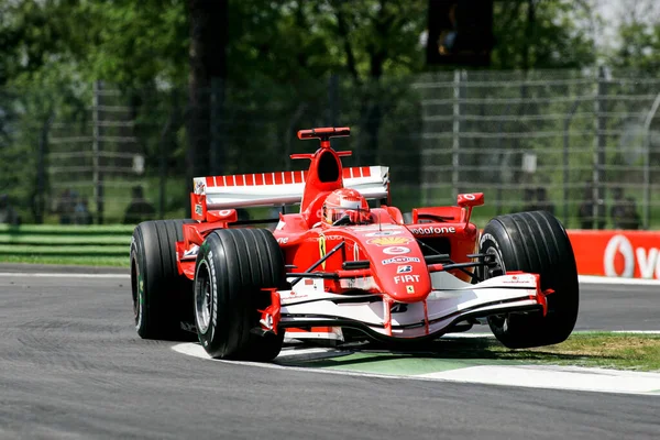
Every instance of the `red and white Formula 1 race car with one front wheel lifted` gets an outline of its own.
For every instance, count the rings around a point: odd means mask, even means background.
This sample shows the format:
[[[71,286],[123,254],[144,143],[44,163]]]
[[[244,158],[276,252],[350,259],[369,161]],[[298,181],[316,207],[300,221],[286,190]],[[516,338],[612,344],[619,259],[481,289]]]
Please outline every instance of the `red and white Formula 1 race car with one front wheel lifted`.
[[[388,168],[343,168],[330,138],[307,172],[195,178],[191,220],[139,224],[131,244],[135,326],[142,338],[197,333],[209,355],[271,361],[285,333],[385,343],[426,341],[488,324],[509,348],[565,340],[578,317],[575,258],[562,224],[543,211],[470,221],[483,194],[458,206],[389,204]],[[297,206],[266,220],[237,209]],[[319,331],[320,330],[320,331]]]

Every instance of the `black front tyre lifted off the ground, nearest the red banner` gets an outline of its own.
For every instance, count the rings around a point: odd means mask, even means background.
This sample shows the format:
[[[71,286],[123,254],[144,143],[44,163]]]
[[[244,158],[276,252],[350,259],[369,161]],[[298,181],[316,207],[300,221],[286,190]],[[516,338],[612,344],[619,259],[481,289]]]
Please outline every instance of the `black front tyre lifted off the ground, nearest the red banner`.
[[[495,337],[509,349],[550,345],[564,341],[578,319],[578,268],[569,237],[549,212],[518,212],[494,218],[480,239],[480,252],[495,255],[497,266],[485,278],[524,271],[540,275],[548,295],[548,314],[508,314],[488,317]]]

